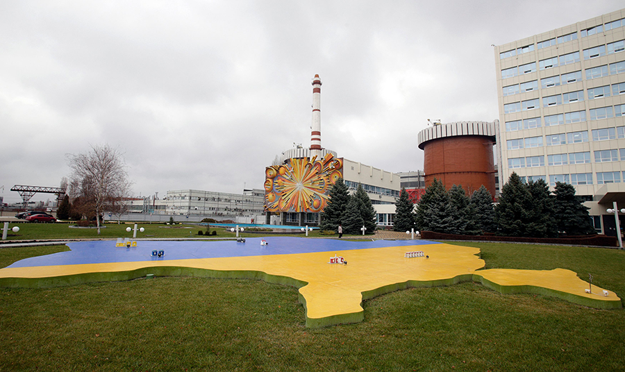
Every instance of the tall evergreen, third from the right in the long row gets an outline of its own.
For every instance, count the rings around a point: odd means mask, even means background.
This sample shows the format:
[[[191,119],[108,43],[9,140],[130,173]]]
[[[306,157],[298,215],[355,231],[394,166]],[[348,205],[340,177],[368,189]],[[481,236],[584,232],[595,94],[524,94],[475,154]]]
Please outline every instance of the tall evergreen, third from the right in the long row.
[[[495,207],[495,219],[499,234],[510,237],[526,237],[526,226],[531,223],[531,194],[515,172],[508,183],[501,187],[499,204]]]

